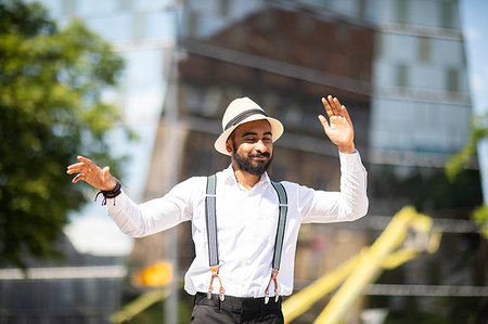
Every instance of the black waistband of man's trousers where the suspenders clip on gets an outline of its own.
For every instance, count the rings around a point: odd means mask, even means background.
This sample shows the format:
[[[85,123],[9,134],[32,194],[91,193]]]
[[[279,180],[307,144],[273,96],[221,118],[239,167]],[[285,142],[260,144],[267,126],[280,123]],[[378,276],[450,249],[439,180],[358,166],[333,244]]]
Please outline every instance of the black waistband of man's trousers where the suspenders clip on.
[[[248,297],[233,297],[226,295],[223,301],[220,300],[218,294],[213,294],[211,299],[207,298],[207,294],[196,293],[195,304],[214,306],[217,310],[227,310],[235,313],[262,313],[281,311],[282,297],[274,300],[274,297],[269,299],[268,303],[265,303],[265,297],[261,298],[248,298]]]

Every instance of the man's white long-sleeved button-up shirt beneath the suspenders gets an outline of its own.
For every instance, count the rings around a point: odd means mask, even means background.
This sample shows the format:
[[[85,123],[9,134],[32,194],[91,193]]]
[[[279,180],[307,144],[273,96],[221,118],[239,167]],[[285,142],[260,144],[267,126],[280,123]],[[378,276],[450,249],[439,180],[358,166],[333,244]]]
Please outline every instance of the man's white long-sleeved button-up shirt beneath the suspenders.
[[[367,213],[367,171],[359,153],[341,154],[341,192],[316,191],[283,181],[288,198],[279,295],[293,291],[293,271],[301,223],[356,220]],[[192,221],[195,259],[184,276],[185,290],[206,293],[210,281],[205,222],[206,177],[190,178],[160,198],[137,205],[121,193],[106,204],[120,230],[132,236],[154,234]],[[112,199],[110,199],[112,200]],[[249,191],[237,183],[232,166],[217,173],[217,236],[226,295],[264,297],[271,275],[278,226],[278,194],[267,173]],[[218,281],[214,293],[218,294]],[[271,284],[270,295],[274,286]]]

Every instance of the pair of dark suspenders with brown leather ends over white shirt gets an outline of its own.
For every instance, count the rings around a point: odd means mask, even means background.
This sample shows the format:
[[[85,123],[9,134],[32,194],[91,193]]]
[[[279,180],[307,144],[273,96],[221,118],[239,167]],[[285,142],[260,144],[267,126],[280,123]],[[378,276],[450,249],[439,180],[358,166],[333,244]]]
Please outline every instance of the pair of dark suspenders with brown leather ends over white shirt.
[[[274,254],[272,260],[271,278],[269,280],[268,286],[265,290],[265,303],[269,301],[269,287],[271,282],[274,283],[274,295],[278,301],[278,272],[280,270],[281,252],[283,249],[284,230],[286,225],[286,213],[287,213],[287,196],[286,191],[280,182],[271,181],[273,189],[278,194],[279,199],[279,219],[277,237],[274,239]],[[207,225],[207,241],[208,241],[208,264],[211,272],[210,285],[208,286],[208,299],[211,298],[211,293],[214,290],[213,284],[214,278],[217,277],[220,284],[220,300],[224,300],[224,293],[222,281],[219,276],[219,252],[217,244],[217,215],[216,215],[216,186],[217,186],[217,176],[213,174],[207,178],[207,190],[205,196],[205,217]]]

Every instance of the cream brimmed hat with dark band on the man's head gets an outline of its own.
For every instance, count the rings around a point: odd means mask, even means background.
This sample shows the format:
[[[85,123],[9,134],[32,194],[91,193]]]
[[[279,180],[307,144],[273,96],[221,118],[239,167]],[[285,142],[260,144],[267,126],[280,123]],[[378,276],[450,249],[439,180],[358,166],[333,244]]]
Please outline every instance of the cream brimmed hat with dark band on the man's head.
[[[268,117],[265,111],[247,96],[233,100],[222,117],[222,133],[215,141],[215,150],[224,155],[230,155],[226,148],[227,140],[240,125],[244,122],[266,119],[271,126],[273,142],[283,134],[283,125],[274,118]]]

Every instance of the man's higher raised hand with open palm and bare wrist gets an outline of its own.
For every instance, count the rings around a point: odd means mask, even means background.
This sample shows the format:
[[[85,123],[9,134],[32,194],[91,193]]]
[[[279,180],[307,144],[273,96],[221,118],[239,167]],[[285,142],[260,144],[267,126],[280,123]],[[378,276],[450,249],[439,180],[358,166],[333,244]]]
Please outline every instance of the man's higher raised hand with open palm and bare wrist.
[[[332,95],[329,95],[326,100],[322,98],[322,104],[331,122],[329,125],[325,117],[319,115],[325,134],[342,153],[355,153],[355,129],[346,107],[341,105],[337,98],[332,98]]]

